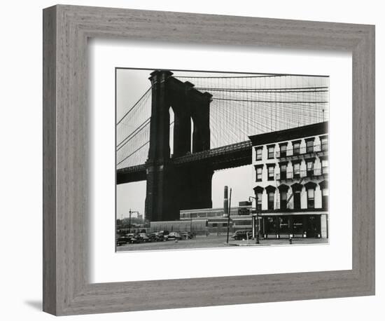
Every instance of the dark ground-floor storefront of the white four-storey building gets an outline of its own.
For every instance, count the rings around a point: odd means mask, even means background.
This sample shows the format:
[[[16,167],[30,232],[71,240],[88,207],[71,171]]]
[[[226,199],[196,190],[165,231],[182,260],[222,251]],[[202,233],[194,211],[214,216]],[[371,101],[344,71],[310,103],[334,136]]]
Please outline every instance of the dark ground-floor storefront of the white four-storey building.
[[[326,214],[264,215],[260,232],[263,238],[327,238]]]

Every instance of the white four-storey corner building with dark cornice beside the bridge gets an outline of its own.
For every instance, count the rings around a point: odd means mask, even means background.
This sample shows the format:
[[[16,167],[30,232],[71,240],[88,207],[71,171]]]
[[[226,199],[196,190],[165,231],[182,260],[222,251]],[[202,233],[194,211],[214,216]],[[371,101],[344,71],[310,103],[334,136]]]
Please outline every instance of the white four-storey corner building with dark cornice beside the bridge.
[[[249,137],[262,238],[328,238],[328,122]]]

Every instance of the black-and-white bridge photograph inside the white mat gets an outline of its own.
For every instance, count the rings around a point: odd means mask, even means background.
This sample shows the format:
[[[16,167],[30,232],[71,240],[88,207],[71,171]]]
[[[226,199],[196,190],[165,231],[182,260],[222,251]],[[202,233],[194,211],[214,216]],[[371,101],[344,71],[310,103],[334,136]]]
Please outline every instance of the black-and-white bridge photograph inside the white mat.
[[[117,67],[116,251],[328,245],[328,108],[328,75]]]

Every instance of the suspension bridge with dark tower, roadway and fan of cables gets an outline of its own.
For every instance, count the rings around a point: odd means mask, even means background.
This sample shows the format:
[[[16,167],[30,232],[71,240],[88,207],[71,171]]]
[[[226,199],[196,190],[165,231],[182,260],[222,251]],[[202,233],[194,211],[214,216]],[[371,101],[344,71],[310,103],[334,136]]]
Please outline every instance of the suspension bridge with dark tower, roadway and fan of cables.
[[[116,182],[146,181],[150,221],[212,207],[214,172],[251,164],[248,136],[328,120],[328,77],[211,75],[155,70],[117,120]]]

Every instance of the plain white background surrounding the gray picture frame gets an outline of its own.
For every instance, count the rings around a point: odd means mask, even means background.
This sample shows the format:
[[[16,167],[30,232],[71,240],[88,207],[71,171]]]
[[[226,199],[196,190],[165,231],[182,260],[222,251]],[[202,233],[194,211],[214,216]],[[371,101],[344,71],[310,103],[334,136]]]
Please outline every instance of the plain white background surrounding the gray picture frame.
[[[377,29],[377,200],[384,193],[384,57],[385,14],[381,1],[220,1],[132,0],[65,1],[67,4],[120,8],[251,15],[375,24]],[[41,312],[42,280],[42,156],[41,156],[41,39],[42,8],[52,1],[7,1],[1,6],[0,67],[0,316],[3,320],[51,320]],[[382,193],[381,193],[382,192]],[[293,301],[283,303],[155,310],[69,317],[69,320],[381,320],[384,311],[384,205],[377,202],[377,295],[368,297]],[[381,275],[382,274],[382,275]]]

